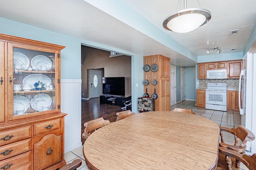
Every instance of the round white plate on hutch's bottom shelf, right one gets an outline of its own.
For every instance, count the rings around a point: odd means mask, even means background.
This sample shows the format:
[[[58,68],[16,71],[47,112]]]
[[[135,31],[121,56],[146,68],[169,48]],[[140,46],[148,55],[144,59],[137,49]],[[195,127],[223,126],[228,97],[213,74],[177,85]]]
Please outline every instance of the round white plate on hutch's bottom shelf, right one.
[[[52,98],[47,94],[38,94],[31,99],[30,105],[36,111],[48,110],[52,105]]]

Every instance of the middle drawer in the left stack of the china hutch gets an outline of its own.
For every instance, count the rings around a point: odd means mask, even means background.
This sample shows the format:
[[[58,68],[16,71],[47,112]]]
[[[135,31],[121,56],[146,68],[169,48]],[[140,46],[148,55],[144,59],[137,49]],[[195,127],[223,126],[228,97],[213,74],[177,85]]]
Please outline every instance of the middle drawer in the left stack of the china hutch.
[[[31,139],[5,145],[0,147],[0,160],[10,158],[29,150],[31,150]]]

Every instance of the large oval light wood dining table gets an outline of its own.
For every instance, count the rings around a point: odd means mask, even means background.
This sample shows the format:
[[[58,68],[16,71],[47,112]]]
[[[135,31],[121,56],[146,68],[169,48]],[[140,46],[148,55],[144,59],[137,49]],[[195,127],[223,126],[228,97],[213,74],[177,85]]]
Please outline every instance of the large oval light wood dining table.
[[[218,162],[219,131],[198,115],[138,113],[92,133],[84,158],[89,170],[211,170]]]

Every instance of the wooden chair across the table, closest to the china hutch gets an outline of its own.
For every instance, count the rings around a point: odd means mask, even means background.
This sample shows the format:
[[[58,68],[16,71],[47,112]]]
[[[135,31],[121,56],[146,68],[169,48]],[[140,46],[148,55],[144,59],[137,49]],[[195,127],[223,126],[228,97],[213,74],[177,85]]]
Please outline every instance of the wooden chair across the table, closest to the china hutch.
[[[84,133],[82,134],[82,138],[87,139],[92,132],[96,131],[96,129],[99,129],[100,127],[103,127],[108,124],[110,124],[110,121],[104,120],[103,117],[85,122],[85,128]]]

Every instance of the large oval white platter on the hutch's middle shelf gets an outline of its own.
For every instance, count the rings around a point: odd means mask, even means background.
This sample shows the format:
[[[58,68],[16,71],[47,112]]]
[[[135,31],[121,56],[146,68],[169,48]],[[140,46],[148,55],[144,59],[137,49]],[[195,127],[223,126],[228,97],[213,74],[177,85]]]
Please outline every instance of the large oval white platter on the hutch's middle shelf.
[[[23,78],[22,84],[29,84],[31,87],[34,87],[34,84],[38,81],[43,82],[43,84],[51,85],[51,79],[44,74],[30,74]],[[46,85],[44,86],[46,88]]]

